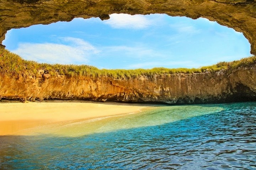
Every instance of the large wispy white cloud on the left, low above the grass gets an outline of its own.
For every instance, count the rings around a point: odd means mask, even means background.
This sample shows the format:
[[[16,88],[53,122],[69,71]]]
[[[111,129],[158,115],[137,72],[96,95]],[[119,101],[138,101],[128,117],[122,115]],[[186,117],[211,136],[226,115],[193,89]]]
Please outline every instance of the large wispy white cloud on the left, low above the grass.
[[[90,55],[99,52],[96,47],[82,39],[71,37],[61,39],[68,45],[21,43],[12,52],[17,53],[26,60],[60,64],[86,64],[89,62]]]

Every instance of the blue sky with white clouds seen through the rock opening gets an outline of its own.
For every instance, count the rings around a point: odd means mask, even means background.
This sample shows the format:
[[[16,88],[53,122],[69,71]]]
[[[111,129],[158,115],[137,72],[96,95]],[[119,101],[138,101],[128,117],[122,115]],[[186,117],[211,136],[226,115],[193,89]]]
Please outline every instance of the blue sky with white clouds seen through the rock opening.
[[[27,60],[98,68],[198,68],[250,55],[242,33],[205,18],[112,14],[12,29],[3,42]]]

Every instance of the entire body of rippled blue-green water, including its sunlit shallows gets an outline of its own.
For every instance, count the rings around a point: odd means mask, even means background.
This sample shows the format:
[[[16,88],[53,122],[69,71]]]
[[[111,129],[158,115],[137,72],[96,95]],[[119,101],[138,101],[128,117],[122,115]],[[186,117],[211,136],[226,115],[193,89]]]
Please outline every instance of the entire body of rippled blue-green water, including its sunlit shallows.
[[[0,137],[0,169],[256,169],[256,102],[156,107],[52,129]]]

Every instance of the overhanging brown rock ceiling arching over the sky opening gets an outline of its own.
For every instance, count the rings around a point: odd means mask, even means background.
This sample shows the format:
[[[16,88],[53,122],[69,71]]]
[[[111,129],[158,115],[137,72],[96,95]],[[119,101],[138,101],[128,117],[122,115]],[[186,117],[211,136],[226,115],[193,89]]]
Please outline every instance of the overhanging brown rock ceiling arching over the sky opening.
[[[7,30],[112,13],[203,17],[244,33],[256,55],[255,0],[0,0],[0,45]]]

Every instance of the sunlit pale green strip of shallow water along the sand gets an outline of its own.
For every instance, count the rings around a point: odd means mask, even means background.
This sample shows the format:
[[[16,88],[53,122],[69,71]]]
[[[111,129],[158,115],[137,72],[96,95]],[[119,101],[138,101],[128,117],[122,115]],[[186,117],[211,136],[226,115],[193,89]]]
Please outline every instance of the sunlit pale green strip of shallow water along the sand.
[[[69,121],[59,124],[39,126],[38,128],[25,130],[22,134],[51,134],[62,137],[78,137],[121,129],[157,126],[190,117],[212,114],[222,110],[222,107],[210,105],[150,107],[144,109],[141,113],[130,113],[122,116],[110,116],[84,121]]]

